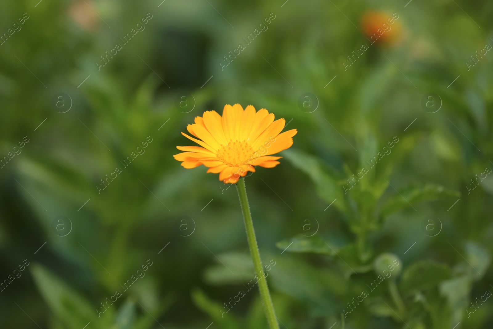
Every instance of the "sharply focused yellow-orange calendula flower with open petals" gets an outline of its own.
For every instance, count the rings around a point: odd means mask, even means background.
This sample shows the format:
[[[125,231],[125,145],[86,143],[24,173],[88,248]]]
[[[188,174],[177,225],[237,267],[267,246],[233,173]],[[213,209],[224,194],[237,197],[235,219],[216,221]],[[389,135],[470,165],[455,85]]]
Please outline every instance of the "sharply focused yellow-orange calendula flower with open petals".
[[[273,168],[281,156],[271,156],[293,145],[296,129],[281,131],[286,121],[274,121],[274,114],[265,109],[255,111],[248,105],[243,110],[240,104],[226,105],[222,116],[216,111],[205,111],[195,117],[195,123],[187,130],[197,137],[183,136],[202,146],[176,146],[184,151],[174,155],[185,168],[200,165],[209,167],[208,173],[219,173],[224,183],[236,183],[254,166]]]

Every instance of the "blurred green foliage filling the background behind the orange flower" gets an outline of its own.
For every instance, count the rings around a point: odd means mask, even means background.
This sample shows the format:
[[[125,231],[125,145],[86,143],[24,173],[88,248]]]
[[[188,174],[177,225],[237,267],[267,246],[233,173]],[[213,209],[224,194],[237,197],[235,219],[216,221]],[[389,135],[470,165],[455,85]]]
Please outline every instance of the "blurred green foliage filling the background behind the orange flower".
[[[280,165],[246,178],[283,327],[492,328],[492,301],[472,303],[493,290],[493,179],[469,188],[493,168],[493,55],[465,63],[493,44],[493,2],[406,2],[2,2],[1,156],[29,138],[0,171],[2,328],[267,328],[256,288],[221,316],[253,278],[235,186],[172,156],[190,145],[180,132],[195,116],[234,103],[298,129]],[[400,33],[345,70],[368,42],[367,10],[397,13]],[[53,105],[61,92],[66,113]],[[307,92],[311,113],[298,106]],[[421,105],[430,92],[435,113]],[[176,100],[188,94],[195,107],[184,113]],[[66,236],[57,216],[70,219]],[[423,230],[428,216],[439,222]],[[401,267],[372,290],[382,254]],[[107,303],[115,290],[122,297]]]

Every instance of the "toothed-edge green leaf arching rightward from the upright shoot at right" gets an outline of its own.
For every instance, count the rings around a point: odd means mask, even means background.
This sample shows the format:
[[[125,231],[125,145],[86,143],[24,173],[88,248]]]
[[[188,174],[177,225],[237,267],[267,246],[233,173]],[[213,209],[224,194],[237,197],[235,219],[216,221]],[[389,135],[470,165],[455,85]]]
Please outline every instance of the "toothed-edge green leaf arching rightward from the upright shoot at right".
[[[460,196],[460,193],[457,191],[431,183],[413,184],[401,189],[399,193],[392,195],[382,207],[381,216],[383,218],[409,207],[409,204],[413,205],[419,202],[433,201],[441,197],[453,196],[458,198]]]

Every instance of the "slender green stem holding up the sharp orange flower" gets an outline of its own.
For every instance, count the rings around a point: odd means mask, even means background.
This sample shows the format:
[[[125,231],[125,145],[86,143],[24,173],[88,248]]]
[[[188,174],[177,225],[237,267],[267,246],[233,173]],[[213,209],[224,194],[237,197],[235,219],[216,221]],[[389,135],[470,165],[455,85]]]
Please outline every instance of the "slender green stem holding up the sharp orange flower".
[[[265,306],[265,316],[269,323],[270,329],[279,329],[279,325],[276,320],[276,311],[274,310],[274,304],[272,303],[271,294],[267,287],[267,280],[262,276],[263,271],[262,260],[260,259],[260,253],[258,252],[257,238],[255,237],[255,231],[253,229],[253,222],[251,220],[250,207],[248,206],[248,198],[246,197],[245,178],[240,178],[236,184],[238,190],[238,197],[240,198],[240,204],[243,211],[243,219],[245,219],[246,237],[248,239],[248,247],[250,248],[251,258],[253,260],[253,268],[255,273],[260,278],[258,281],[258,290],[260,291],[260,298]]]

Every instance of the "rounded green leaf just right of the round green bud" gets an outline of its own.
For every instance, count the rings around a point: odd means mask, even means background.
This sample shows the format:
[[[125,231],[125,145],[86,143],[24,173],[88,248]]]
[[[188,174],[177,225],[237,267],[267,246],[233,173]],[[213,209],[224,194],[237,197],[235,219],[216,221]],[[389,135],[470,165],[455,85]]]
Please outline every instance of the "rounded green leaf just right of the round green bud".
[[[402,274],[400,287],[405,294],[435,287],[448,280],[451,272],[446,264],[420,260],[408,266]]]

